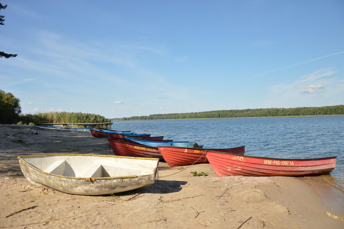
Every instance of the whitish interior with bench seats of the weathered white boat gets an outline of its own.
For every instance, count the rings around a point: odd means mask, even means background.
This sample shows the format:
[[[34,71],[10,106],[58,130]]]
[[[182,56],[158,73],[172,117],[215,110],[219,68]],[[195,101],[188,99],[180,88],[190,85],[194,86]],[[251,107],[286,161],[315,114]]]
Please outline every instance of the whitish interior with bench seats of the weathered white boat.
[[[47,155],[22,159],[45,173],[79,178],[149,175],[157,168],[157,160],[118,156]]]

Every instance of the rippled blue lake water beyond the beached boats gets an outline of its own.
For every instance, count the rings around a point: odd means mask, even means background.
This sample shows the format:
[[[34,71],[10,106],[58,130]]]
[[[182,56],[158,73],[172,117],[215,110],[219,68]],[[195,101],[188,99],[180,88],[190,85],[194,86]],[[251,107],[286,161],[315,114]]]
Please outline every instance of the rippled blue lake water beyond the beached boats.
[[[204,148],[245,145],[250,156],[337,156],[336,168],[322,177],[344,187],[344,116],[118,121],[111,128],[189,140]]]

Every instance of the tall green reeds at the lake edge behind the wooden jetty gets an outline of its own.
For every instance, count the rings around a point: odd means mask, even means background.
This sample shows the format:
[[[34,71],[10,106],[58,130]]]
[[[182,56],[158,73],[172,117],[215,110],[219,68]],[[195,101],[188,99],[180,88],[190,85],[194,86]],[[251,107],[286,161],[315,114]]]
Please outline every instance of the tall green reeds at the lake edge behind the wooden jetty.
[[[47,112],[36,114],[23,114],[22,123],[107,123],[110,119],[101,115],[75,112]]]

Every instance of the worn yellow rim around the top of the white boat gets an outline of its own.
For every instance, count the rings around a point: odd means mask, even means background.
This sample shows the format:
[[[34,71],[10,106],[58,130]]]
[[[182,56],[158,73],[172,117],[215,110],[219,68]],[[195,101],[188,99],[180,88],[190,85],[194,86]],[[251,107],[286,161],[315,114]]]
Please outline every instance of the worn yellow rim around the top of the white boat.
[[[157,163],[159,163],[159,158],[145,158],[145,157],[126,157],[126,156],[116,156],[116,155],[98,155],[98,154],[40,154],[40,155],[27,155],[27,156],[18,156],[18,159],[21,160],[25,165],[28,165],[32,169],[39,171],[40,173],[43,173],[45,175],[54,176],[54,177],[60,177],[65,179],[74,179],[74,180],[85,180],[86,178],[90,177],[67,177],[67,176],[61,176],[61,175],[55,175],[52,173],[47,173],[41,169],[35,168],[30,163],[26,162],[23,158],[25,157],[49,157],[49,156],[100,156],[100,157],[115,157],[115,158],[132,158],[132,159],[144,159],[144,160],[157,160]],[[157,165],[158,167],[158,165]],[[156,173],[157,167],[153,169],[153,173]],[[148,174],[151,175],[151,174]],[[132,175],[132,176],[119,176],[119,177],[92,177],[92,179],[95,180],[114,180],[114,179],[127,179],[127,178],[137,178],[140,176],[147,176],[147,175]]]

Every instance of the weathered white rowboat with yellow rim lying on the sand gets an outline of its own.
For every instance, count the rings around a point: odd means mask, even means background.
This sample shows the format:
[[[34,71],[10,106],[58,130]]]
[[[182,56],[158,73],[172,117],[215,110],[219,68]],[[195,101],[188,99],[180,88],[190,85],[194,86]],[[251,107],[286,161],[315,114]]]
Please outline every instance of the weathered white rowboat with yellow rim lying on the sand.
[[[90,154],[19,156],[32,184],[75,195],[104,195],[152,185],[158,158]]]

